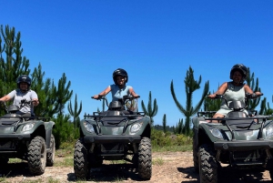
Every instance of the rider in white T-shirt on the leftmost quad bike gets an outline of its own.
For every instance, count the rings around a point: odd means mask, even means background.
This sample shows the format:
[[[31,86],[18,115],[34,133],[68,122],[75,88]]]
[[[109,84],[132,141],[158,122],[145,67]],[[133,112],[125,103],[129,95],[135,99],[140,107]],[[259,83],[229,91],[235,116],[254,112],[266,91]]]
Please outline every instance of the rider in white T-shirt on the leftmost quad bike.
[[[31,78],[26,75],[17,78],[17,89],[11,91],[0,101],[5,102],[14,98],[14,105],[19,107],[17,114],[24,116],[35,116],[34,108],[38,106],[39,100],[35,91],[30,89]]]

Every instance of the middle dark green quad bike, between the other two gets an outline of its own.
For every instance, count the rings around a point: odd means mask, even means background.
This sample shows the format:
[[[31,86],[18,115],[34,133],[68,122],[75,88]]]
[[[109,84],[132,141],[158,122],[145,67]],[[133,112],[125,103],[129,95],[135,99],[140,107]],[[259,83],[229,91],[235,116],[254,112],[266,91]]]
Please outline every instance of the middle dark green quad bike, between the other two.
[[[124,96],[120,101],[109,105],[106,97],[99,96],[98,99],[106,101],[108,110],[93,112],[93,115],[85,116],[80,122],[80,137],[74,152],[76,178],[88,178],[90,168],[101,166],[104,159],[123,159],[137,167],[140,178],[150,179],[150,117],[144,112],[125,109],[127,104],[136,103],[136,97]]]

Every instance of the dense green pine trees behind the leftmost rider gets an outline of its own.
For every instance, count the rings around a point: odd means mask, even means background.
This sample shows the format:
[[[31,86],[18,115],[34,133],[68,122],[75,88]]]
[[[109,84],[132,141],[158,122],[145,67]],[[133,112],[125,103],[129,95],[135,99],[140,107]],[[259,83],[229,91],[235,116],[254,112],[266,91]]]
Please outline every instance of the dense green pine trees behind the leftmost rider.
[[[45,71],[41,64],[34,67],[34,71],[29,69],[30,62],[23,56],[20,32],[15,32],[15,27],[1,25],[0,34],[0,96],[3,97],[17,88],[16,79],[21,75],[32,77],[31,89],[39,98],[40,104],[35,107],[37,117],[51,117],[56,122],[53,133],[56,137],[56,147],[61,142],[72,140],[79,136],[78,128],[73,127],[69,122],[70,116],[63,114],[66,103],[70,100],[73,90],[70,90],[71,82],[67,81],[66,74],[58,80],[56,86],[53,79],[45,78]],[[7,105],[12,101],[7,102]],[[71,107],[71,105],[70,105]],[[71,109],[71,108],[70,108]],[[78,121],[79,111],[72,111],[74,121]],[[1,110],[0,115],[5,111]],[[57,117],[54,116],[57,114]]]

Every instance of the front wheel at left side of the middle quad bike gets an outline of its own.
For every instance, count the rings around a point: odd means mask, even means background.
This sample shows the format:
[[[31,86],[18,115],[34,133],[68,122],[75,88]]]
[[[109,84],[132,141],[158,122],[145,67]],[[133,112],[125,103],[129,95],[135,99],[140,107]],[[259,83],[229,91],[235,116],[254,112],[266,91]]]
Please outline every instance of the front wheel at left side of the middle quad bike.
[[[89,173],[87,149],[81,140],[78,140],[74,151],[74,171],[77,179],[86,179]]]

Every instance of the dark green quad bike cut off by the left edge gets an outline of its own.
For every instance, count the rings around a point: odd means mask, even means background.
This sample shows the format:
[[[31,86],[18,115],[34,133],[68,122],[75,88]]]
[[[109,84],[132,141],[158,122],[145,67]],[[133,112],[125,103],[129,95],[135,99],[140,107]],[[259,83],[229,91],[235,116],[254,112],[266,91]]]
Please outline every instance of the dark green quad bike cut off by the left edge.
[[[22,100],[21,104],[31,101]],[[9,158],[26,160],[30,173],[41,175],[45,166],[52,167],[55,160],[55,122],[48,117],[18,115],[19,107],[6,106],[6,114],[0,117],[0,165],[5,168]]]

